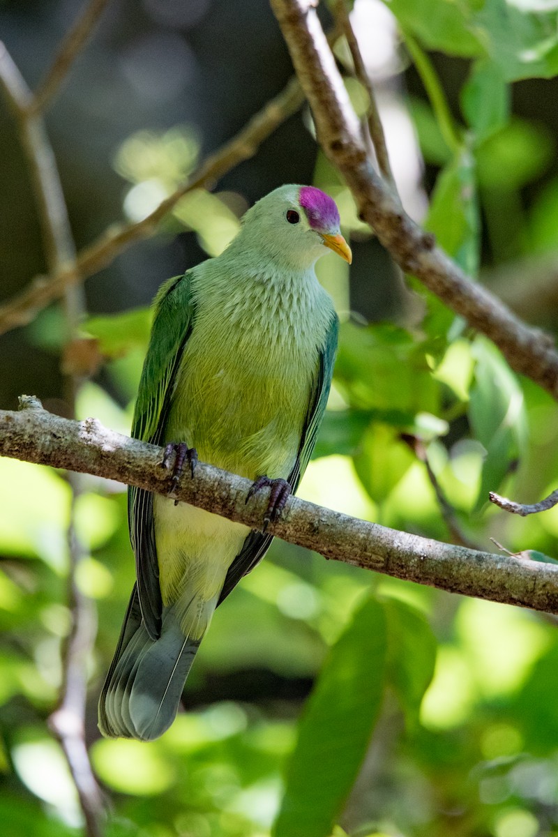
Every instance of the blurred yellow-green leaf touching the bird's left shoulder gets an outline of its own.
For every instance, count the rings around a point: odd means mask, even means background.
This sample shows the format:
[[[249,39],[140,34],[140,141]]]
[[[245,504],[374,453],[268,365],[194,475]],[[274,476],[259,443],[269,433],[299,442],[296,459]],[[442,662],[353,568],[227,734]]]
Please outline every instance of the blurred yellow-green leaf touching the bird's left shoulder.
[[[137,347],[146,349],[151,320],[151,308],[136,308],[122,314],[90,317],[82,327],[98,339],[105,357],[121,357]]]

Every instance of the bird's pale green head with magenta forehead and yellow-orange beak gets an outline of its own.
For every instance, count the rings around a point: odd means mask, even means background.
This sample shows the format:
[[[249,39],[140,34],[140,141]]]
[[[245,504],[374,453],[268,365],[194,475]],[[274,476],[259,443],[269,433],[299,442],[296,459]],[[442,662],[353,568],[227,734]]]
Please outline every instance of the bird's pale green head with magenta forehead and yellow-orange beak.
[[[303,270],[328,249],[352,261],[335,201],[314,186],[281,186],[255,203],[244,215],[238,245]]]

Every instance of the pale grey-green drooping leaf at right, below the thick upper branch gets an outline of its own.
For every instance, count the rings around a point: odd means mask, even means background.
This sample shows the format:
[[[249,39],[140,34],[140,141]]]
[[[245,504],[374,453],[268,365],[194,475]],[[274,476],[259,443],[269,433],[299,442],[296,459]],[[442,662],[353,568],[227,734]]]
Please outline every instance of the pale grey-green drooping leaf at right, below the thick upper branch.
[[[472,351],[477,362],[468,416],[475,438],[486,449],[473,510],[478,513],[488,501],[489,491],[499,489],[525,449],[527,419],[520,383],[498,349],[479,336]]]

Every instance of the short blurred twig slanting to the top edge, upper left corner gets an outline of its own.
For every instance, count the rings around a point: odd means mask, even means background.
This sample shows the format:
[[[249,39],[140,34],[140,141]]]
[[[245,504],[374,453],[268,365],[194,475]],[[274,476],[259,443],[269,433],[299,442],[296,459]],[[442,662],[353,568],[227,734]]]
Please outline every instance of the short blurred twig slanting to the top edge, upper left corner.
[[[108,2],[109,0],[90,0],[83,13],[79,15],[72,28],[66,33],[49,71],[35,90],[33,98],[29,101],[29,116],[44,113],[47,105],[59,92],[71,65],[90,39]]]

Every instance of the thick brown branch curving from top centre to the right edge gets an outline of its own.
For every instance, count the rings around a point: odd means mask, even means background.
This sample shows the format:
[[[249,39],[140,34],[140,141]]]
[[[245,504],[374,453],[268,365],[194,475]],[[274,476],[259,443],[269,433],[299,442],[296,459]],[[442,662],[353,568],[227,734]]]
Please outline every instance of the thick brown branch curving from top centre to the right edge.
[[[550,336],[525,326],[476,285],[403,211],[366,155],[359,124],[320,26],[313,0],[270,0],[294,69],[314,115],[320,145],[340,169],[361,218],[406,273],[419,280],[475,329],[488,336],[515,372],[558,398],[558,353]]]

